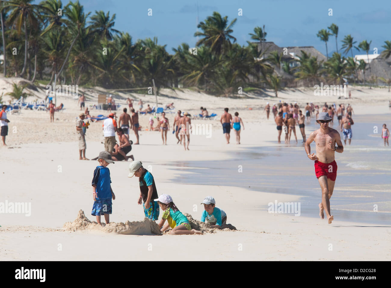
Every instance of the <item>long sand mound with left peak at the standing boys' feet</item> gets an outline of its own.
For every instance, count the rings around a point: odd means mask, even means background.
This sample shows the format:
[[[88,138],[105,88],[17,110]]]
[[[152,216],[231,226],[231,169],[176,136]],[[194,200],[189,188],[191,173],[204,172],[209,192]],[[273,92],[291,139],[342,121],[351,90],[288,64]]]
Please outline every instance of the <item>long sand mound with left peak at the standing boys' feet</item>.
[[[83,210],[79,210],[77,218],[73,222],[67,222],[63,225],[66,231],[77,230],[101,230],[109,233],[118,233],[126,235],[161,235],[159,226],[148,218],[144,218],[143,221],[126,221],[126,223],[114,223],[98,225],[97,222],[91,222],[84,215]]]

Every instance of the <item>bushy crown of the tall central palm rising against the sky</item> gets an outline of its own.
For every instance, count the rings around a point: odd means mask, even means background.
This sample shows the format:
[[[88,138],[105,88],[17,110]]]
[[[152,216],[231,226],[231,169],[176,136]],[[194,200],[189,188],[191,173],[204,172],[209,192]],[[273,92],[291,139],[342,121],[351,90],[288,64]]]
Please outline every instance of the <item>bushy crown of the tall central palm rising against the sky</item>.
[[[236,23],[237,18],[231,21],[227,26],[228,16],[221,17],[220,13],[213,12],[213,16],[208,16],[205,22],[200,22],[197,28],[201,28],[203,32],[195,32],[194,36],[203,36],[197,41],[196,46],[207,45],[213,52],[221,54],[227,51],[231,46],[231,40],[236,42],[236,38],[231,36],[233,30],[231,27]]]

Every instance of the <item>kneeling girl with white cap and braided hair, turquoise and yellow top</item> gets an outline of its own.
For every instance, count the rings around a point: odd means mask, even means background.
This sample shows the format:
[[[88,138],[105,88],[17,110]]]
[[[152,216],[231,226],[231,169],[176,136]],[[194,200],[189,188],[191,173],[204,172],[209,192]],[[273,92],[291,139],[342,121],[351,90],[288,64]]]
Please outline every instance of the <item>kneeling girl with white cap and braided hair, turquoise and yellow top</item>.
[[[157,223],[162,232],[167,230],[170,226],[172,228],[172,230],[170,230],[171,235],[201,234],[201,231],[191,228],[189,220],[175,206],[170,195],[161,194],[157,201],[161,210],[163,210],[161,220]],[[164,224],[166,220],[167,223]]]

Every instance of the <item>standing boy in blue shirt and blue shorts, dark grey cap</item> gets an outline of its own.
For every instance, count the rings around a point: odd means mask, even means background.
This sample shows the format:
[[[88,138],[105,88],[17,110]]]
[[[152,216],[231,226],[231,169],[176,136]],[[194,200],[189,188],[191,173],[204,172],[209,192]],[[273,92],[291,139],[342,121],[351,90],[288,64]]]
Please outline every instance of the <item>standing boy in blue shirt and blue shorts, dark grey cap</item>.
[[[111,198],[115,199],[113,190],[111,189],[110,170],[107,165],[114,163],[111,160],[109,152],[102,151],[98,156],[99,166],[95,168],[92,178],[92,190],[94,204],[92,205],[92,216],[97,217],[97,223],[100,224],[100,216],[104,214],[106,224],[109,224],[109,214],[111,214]]]

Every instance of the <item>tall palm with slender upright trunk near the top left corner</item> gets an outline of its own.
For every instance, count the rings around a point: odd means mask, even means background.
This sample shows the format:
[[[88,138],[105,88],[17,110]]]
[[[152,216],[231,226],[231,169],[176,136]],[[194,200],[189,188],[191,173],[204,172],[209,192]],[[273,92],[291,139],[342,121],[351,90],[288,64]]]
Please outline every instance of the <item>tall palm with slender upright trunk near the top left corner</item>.
[[[38,9],[39,5],[31,4],[34,0],[11,0],[4,7],[5,9],[11,9],[9,14],[8,22],[16,25],[16,30],[18,35],[22,32],[22,22],[24,25],[24,34],[25,34],[25,60],[23,64],[22,72],[19,76],[22,77],[26,72],[27,67],[27,53],[28,53],[28,31],[27,31],[27,21],[31,29],[38,29],[39,14]]]

